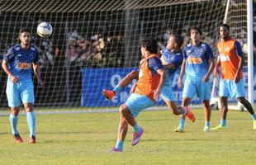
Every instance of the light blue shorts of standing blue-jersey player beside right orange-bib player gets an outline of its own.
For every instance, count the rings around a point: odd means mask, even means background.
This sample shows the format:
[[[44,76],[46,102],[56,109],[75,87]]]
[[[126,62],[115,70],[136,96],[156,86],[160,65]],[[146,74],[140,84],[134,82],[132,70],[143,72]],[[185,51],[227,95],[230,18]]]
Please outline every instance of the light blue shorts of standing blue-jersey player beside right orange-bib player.
[[[192,80],[186,78],[183,88],[183,98],[193,98],[197,95],[201,101],[211,99],[211,82],[202,82],[201,80]]]

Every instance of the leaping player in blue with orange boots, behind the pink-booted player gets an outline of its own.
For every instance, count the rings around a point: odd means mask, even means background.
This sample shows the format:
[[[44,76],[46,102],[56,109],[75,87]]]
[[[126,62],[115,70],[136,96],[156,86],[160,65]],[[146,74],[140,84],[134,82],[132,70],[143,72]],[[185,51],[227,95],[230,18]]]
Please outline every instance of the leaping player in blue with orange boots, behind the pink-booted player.
[[[161,61],[162,64],[164,65],[164,68],[167,68],[168,78],[165,79],[164,86],[160,93],[160,97],[164,99],[166,105],[168,106],[168,109],[172,111],[174,115],[184,114],[185,116],[187,115],[189,119],[194,121],[195,117],[188,107],[177,106],[176,98],[172,90],[173,74],[176,72],[178,67],[183,63],[183,52],[181,50],[182,45],[183,37],[181,35],[171,35],[168,40],[168,45],[163,51],[161,51]],[[130,72],[125,78],[122,78],[119,84],[112,91],[107,91],[104,89],[102,93],[107,98],[107,100],[111,101],[111,99],[116,94],[121,92],[124,89],[124,87],[129,85],[133,79],[138,78],[139,71],[134,70]],[[134,87],[131,88],[131,93],[135,91],[135,87],[136,84]],[[120,130],[119,134],[121,134],[122,132],[124,132],[124,129]],[[117,139],[115,148],[122,150],[122,144],[122,139]]]

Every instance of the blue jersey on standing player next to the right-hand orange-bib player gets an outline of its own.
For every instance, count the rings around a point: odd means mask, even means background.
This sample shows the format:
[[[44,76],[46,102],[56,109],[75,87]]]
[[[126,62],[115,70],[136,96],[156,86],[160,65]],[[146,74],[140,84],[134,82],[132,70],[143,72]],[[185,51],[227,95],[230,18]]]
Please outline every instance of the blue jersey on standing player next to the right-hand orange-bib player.
[[[186,76],[193,80],[201,80],[206,75],[210,67],[209,59],[214,58],[210,46],[203,42],[197,46],[186,45],[183,56],[186,59]]]

